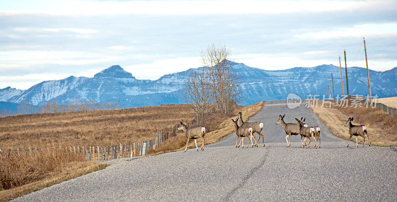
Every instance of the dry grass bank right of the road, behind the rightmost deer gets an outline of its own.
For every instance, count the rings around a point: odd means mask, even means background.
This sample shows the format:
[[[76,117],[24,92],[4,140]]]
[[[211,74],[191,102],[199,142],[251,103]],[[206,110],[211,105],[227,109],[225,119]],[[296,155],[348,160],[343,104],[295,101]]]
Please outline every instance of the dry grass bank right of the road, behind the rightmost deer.
[[[349,117],[354,117],[353,125],[365,125],[367,127],[367,133],[372,145],[397,145],[397,115],[389,116],[386,112],[377,108],[354,108],[351,103],[346,108],[335,106],[335,102],[332,102],[331,108],[328,107],[328,104],[321,107],[321,100],[319,100],[318,104],[318,107],[311,107],[311,109],[334,135],[347,140],[350,135],[348,128],[344,127],[344,124]],[[355,137],[352,137],[351,141],[355,142]],[[358,143],[362,144],[362,142],[363,138],[358,137]],[[367,144],[367,139],[365,144]]]

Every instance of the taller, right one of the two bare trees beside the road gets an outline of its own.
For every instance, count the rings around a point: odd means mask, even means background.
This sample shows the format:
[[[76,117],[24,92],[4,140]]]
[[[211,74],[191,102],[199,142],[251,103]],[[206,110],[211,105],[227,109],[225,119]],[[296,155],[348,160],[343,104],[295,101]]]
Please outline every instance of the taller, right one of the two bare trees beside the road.
[[[231,105],[239,99],[239,78],[231,73],[230,49],[225,45],[208,45],[201,50],[205,74],[209,80],[212,99],[223,114],[229,114]]]

